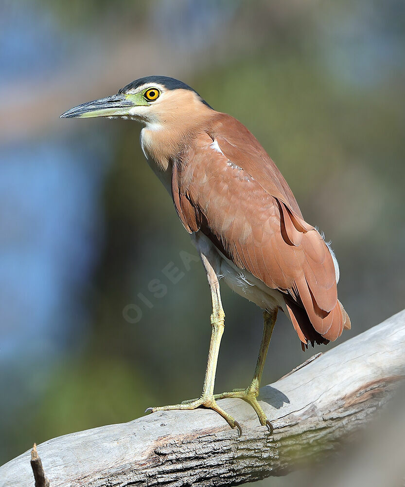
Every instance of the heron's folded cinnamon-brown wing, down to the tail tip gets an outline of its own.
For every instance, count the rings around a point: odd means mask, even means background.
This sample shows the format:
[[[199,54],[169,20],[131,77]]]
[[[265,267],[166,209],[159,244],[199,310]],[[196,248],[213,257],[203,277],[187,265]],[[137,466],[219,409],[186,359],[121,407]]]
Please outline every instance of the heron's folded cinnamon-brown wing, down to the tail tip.
[[[172,191],[189,232],[202,231],[239,268],[282,293],[303,344],[335,340],[350,327],[327,245],[237,120],[221,114],[194,140],[175,161]]]

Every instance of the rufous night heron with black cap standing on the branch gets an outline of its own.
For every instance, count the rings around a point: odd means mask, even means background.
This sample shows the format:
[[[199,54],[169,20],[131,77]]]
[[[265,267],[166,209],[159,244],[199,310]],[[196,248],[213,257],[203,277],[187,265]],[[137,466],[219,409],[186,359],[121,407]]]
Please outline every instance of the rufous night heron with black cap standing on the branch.
[[[244,125],[165,76],[137,79],[118,94],[79,105],[61,117],[123,117],[144,125],[145,157],[172,196],[207,271],[212,330],[202,394],[149,411],[205,406],[241,432],[239,423],[216,403],[238,397],[272,431],[257,397],[277,311],[290,318],[303,349],[308,343],[335,340],[350,328],[337,299],[335,255],[317,228],[303,219],[279,169]],[[251,384],[214,394],[225,319],[220,279],[264,310],[264,332]]]

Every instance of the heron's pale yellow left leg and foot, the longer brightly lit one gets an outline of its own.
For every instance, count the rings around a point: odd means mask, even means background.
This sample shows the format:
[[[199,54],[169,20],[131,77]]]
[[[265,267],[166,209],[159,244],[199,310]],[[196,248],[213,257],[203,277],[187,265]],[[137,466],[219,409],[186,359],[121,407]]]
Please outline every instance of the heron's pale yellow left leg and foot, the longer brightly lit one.
[[[212,256],[211,256],[212,257]],[[207,370],[205,373],[203,391],[198,399],[192,399],[189,401],[183,401],[180,404],[174,404],[172,406],[162,406],[158,408],[148,408],[146,411],[171,411],[171,410],[190,410],[203,406],[213,411],[218,412],[229,424],[231,428],[237,427],[239,435],[242,433],[242,429],[237,421],[218,406],[214,399],[214,383],[216,366],[218,362],[219,346],[221,344],[221,338],[225,328],[225,313],[222,308],[221,295],[219,292],[218,277],[215,273],[211,262],[214,263],[216,256],[213,256],[212,260],[201,252],[201,259],[204,267],[207,270],[207,277],[211,288],[211,300],[212,300],[212,314],[211,314],[211,343],[210,351],[208,353]]]

